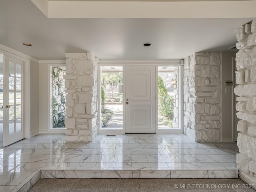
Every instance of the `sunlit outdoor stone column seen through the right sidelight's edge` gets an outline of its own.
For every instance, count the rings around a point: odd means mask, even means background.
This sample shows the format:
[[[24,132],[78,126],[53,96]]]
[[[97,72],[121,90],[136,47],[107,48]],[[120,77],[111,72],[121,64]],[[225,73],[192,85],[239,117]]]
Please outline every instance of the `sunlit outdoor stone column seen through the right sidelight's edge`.
[[[174,80],[176,80],[176,86],[173,90],[173,127],[179,127],[179,68],[174,70]]]

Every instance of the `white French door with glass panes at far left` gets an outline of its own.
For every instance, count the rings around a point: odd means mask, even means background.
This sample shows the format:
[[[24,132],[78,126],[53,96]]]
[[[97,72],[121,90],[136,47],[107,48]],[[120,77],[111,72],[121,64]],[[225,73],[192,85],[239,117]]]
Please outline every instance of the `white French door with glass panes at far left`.
[[[23,65],[9,57],[3,62],[3,88],[1,107],[3,112],[4,146],[24,138],[23,133]]]

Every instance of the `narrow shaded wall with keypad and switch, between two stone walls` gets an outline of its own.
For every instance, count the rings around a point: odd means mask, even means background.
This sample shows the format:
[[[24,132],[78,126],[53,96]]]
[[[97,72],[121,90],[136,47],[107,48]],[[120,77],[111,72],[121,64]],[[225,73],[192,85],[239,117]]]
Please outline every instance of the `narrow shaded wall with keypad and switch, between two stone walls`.
[[[232,141],[233,133],[233,94],[234,86],[226,86],[226,81],[233,81],[234,70],[232,67],[232,57],[235,57],[234,52],[223,52],[222,53],[222,141]],[[230,94],[225,93],[225,89],[230,89]]]

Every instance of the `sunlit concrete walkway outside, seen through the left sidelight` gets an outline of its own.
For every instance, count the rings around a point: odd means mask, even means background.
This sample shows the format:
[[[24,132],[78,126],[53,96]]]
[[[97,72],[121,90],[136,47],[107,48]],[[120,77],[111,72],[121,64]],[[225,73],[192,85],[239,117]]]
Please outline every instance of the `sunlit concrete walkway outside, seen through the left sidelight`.
[[[113,111],[106,128],[123,128],[123,105],[105,105],[105,107]]]

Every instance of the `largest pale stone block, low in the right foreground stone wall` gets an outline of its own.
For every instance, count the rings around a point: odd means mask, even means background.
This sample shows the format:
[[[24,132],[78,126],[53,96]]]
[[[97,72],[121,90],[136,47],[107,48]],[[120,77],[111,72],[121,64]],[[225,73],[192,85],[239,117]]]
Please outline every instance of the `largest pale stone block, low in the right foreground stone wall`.
[[[237,146],[240,153],[256,161],[256,137],[248,136],[240,132],[238,133]]]

